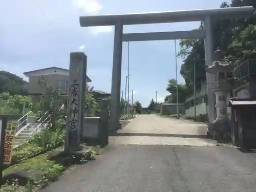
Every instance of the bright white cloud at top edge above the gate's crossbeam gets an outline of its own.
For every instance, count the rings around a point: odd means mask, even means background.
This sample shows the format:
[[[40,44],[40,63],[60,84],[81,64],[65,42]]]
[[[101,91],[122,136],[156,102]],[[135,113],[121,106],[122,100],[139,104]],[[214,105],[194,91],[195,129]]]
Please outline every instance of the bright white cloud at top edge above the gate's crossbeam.
[[[102,5],[97,0],[73,0],[73,3],[88,14],[95,14],[102,10]]]

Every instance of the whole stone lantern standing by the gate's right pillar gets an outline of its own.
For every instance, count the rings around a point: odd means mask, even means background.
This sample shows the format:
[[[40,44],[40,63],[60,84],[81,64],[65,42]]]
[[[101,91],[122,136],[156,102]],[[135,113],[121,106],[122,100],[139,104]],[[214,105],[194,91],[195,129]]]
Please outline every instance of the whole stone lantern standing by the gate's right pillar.
[[[215,107],[217,114],[216,119],[213,122],[214,127],[216,128],[216,126],[219,126],[228,120],[227,98],[230,97],[231,84],[228,82],[227,73],[233,71],[233,65],[224,60],[224,53],[219,50],[219,48],[214,53],[214,60],[215,61],[210,63],[205,70],[214,75],[213,84],[210,89],[214,90],[216,96]]]

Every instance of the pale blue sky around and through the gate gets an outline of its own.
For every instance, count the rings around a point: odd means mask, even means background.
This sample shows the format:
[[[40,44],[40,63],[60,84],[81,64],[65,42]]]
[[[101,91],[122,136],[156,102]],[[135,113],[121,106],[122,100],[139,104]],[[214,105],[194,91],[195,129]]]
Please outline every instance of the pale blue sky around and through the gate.
[[[88,55],[88,76],[96,90],[111,92],[113,27],[82,28],[79,16],[219,8],[222,0],[10,0],[0,7],[0,70],[23,76],[26,71],[69,68],[70,52]],[[230,1],[228,1],[230,3]],[[197,22],[124,26],[124,33],[183,31]],[[178,44],[178,41],[177,41]],[[179,46],[177,46],[179,51]],[[178,71],[182,59],[178,58]],[[155,92],[163,101],[169,78],[175,78],[173,40],[130,42],[130,91],[147,106]],[[121,90],[127,75],[123,43]],[[179,82],[184,79],[179,75]]]

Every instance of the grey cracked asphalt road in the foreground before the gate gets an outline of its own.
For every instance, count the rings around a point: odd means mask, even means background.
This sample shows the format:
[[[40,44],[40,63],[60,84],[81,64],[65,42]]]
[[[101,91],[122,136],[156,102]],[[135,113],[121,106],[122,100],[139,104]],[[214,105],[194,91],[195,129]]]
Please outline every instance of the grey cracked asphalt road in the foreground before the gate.
[[[109,145],[42,191],[256,191],[256,154],[224,146]]]

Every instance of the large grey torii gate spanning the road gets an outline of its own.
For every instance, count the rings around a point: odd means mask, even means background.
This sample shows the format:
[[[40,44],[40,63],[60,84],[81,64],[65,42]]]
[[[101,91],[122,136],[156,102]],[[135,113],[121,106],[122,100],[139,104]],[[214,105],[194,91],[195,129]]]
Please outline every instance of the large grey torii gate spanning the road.
[[[212,38],[211,23],[214,20],[245,18],[254,11],[253,7],[232,7],[219,9],[167,11],[151,13],[134,13],[118,15],[80,16],[81,27],[115,26],[110,130],[118,129],[120,112],[120,86],[121,86],[121,62],[122,42],[144,40],[170,40],[186,38],[204,38],[205,64],[208,66],[213,60],[214,40]],[[151,32],[151,33],[127,33],[123,34],[123,25],[159,24],[175,22],[203,21],[204,29],[192,31]],[[208,117],[214,121],[215,95],[211,89],[213,75],[206,74],[208,93]]]

